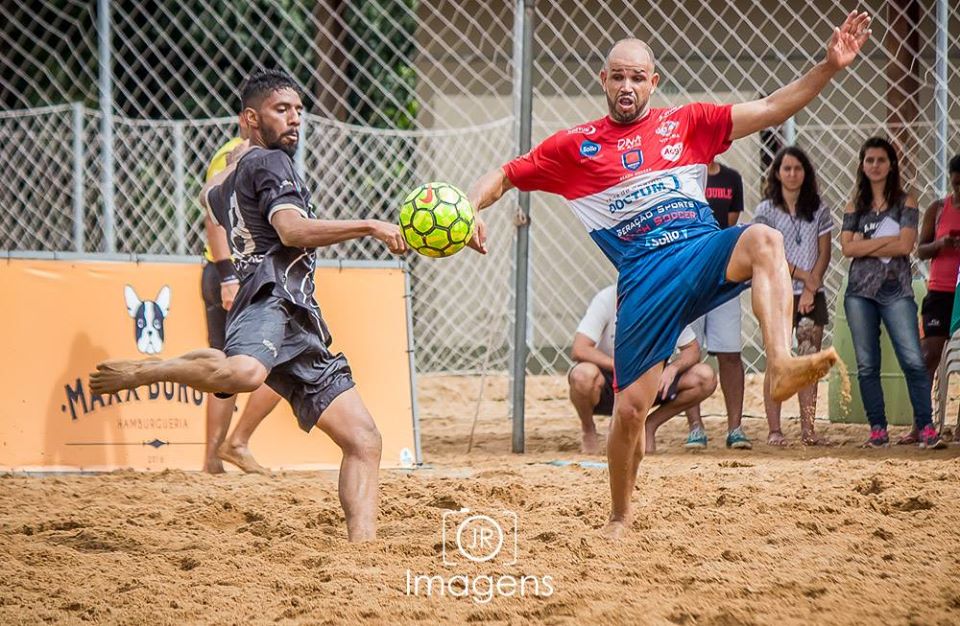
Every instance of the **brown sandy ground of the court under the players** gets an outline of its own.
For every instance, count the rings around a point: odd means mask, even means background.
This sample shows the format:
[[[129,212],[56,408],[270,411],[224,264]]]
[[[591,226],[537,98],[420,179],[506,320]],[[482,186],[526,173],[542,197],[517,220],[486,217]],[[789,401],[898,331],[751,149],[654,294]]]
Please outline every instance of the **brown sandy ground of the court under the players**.
[[[382,473],[380,538],[372,544],[347,543],[336,477],[328,472],[3,476],[0,622],[950,624],[960,618],[958,447],[862,450],[864,427],[824,424],[839,445],[759,444],[735,452],[717,446],[723,421],[708,417],[710,448],[690,454],[680,448],[685,425],[674,420],[662,429],[661,452],[641,465],[636,522],[613,546],[599,533],[609,498],[605,459],[578,452],[563,379],[531,379],[523,456],[509,454],[500,377],[487,379],[475,449],[466,454],[478,384],[421,379],[429,467]],[[748,414],[756,409],[750,400],[756,385],[751,377]],[[720,406],[715,396],[704,412]],[[765,423],[745,423],[762,440]],[[797,421],[785,426],[787,437],[798,440]],[[441,539],[442,518],[461,507],[514,512],[517,562],[461,558],[445,565],[444,549],[455,546]],[[411,593],[411,576],[418,575],[443,577],[443,593],[436,578],[431,593],[425,579]],[[525,582],[524,595],[510,579]],[[488,581],[503,593],[491,594]]]

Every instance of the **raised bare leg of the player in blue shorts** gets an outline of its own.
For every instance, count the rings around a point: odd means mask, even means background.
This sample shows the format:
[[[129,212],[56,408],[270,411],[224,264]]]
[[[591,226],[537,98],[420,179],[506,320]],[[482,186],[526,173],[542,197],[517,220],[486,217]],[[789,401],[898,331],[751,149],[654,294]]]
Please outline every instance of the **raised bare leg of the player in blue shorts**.
[[[753,312],[767,355],[766,384],[774,400],[782,402],[820,380],[839,360],[833,348],[802,357],[790,354],[793,291],[778,231],[762,224],[746,229],[727,264],[727,280],[752,281]]]

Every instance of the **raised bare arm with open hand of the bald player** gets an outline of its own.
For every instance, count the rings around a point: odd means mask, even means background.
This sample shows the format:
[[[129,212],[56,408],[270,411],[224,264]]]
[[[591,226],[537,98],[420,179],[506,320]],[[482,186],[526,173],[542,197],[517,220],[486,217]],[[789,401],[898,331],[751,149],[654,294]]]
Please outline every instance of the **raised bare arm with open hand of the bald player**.
[[[777,126],[807,106],[840,70],[846,68],[870,37],[870,16],[852,11],[843,24],[833,29],[826,58],[806,74],[766,98],[733,105],[730,139],[740,139]]]

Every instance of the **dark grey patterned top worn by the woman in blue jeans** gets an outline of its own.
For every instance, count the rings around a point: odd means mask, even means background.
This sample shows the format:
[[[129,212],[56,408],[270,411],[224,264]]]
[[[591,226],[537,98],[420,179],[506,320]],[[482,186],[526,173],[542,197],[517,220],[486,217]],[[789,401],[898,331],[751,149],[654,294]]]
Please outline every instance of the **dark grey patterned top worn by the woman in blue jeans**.
[[[860,233],[871,239],[885,218],[897,222],[900,228],[916,228],[920,211],[904,206],[901,202],[884,211],[867,213],[844,213],[842,230]],[[887,304],[898,298],[912,298],[910,255],[896,256],[884,263],[877,257],[858,257],[850,260],[850,276],[847,280],[847,295],[860,296]]]

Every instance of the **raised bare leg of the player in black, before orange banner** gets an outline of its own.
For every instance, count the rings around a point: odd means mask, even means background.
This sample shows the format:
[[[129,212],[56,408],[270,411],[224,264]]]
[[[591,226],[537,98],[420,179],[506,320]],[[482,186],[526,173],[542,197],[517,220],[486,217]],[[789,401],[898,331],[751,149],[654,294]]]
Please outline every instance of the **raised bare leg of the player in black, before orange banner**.
[[[267,368],[246,355],[228,357],[219,350],[204,348],[182,356],[156,359],[105,361],[90,374],[90,391],[115,393],[141,385],[172,382],[207,392],[244,393],[267,379]]]

